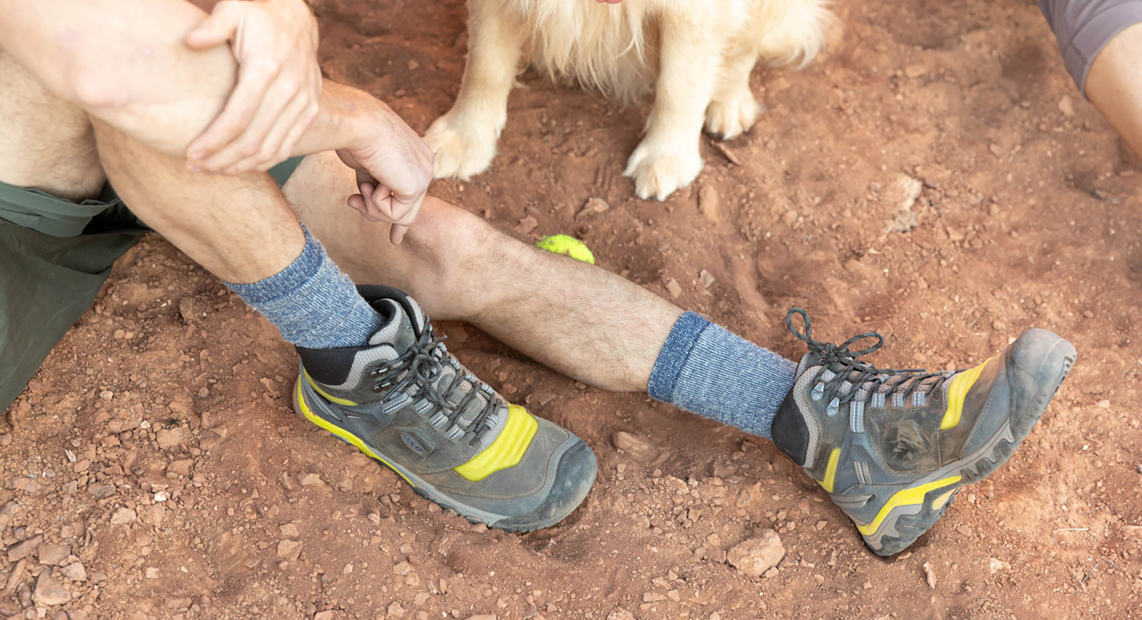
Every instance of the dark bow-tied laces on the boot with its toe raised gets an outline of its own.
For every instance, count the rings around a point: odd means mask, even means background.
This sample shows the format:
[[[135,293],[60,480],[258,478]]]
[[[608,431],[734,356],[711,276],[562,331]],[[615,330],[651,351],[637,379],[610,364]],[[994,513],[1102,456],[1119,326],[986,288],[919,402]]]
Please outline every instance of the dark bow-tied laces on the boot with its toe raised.
[[[799,314],[805,323],[804,332],[794,328],[793,316],[795,314]],[[940,390],[933,388],[956,373],[956,371],[930,372],[926,369],[917,368],[878,369],[860,360],[860,356],[868,355],[884,346],[883,336],[869,331],[853,336],[839,345],[814,340],[809,313],[802,308],[791,308],[786,314],[786,327],[809,346],[809,351],[817,353],[820,357],[820,364],[833,373],[830,378],[819,381],[812,393],[813,400],[828,397],[827,412],[829,416],[835,416],[841,405],[852,402],[858,395],[862,395],[861,400],[866,404],[869,404],[875,393],[883,393],[885,402],[894,394],[900,394],[901,398],[907,402],[914,393],[927,394],[928,392],[939,398]],[[859,351],[850,349],[851,346],[861,340],[872,338],[876,339],[876,343],[871,346]],[[849,384],[847,387],[845,384]]]

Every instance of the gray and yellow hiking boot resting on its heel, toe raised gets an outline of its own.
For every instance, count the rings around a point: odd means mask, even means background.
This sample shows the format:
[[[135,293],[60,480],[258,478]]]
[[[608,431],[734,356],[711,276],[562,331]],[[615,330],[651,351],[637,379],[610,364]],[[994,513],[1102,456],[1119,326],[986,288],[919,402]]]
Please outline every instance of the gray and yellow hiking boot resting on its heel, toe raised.
[[[878,555],[911,545],[960,486],[1003,465],[1075,363],[1070,343],[1031,329],[970,370],[883,370],[859,359],[880,348],[879,333],[819,343],[801,308],[786,324],[809,353],[773,420],[773,443],[820,482]],[[877,343],[849,349],[866,338]]]

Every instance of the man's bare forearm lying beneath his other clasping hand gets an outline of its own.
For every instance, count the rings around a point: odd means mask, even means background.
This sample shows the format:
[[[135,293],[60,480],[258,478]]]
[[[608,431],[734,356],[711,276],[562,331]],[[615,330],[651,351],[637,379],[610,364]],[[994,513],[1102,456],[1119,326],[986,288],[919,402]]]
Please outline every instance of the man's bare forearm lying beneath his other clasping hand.
[[[186,47],[203,18],[183,0],[5,0],[0,46],[55,95],[182,156],[222,111],[239,71],[226,47]],[[321,113],[295,154],[354,146],[380,105],[327,81]]]

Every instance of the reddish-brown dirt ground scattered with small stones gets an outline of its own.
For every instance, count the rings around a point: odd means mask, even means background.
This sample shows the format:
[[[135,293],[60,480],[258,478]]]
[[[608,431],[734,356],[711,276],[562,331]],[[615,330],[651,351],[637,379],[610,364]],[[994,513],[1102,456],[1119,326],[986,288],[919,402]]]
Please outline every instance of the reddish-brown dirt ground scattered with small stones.
[[[463,2],[325,0],[317,13],[330,77],[418,130],[449,107]],[[791,357],[802,353],[782,321],[791,305],[810,308],[819,338],[879,330],[884,367],[966,367],[1030,327],[1071,339],[1078,363],[1024,448],[908,553],[866,550],[769,442],[576,385],[453,323],[443,331],[463,362],[600,460],[598,483],[563,524],[473,528],[293,417],[291,348],[150,236],[2,422],[0,505],[18,505],[0,513],[3,542],[42,533],[43,545],[23,564],[0,557],[0,611],[1137,617],[1142,166],[1071,84],[1034,2],[851,0],[841,13],[827,55],[801,72],[755,73],[761,122],[724,150],[703,139],[705,171],[666,203],[635,199],[619,175],[645,105],[532,73],[512,95],[492,169],[435,192],[505,230],[536,218],[515,233],[528,242],[576,234],[603,267],[667,297],[674,280],[677,304]],[[916,226],[899,232],[916,182]],[[576,219],[592,196],[612,208]],[[893,223],[906,225],[886,232]],[[652,452],[618,450],[619,430]],[[771,528],[788,551],[775,575],[725,562]],[[53,558],[50,543],[74,558]],[[40,564],[51,561],[81,562],[86,579],[59,577],[71,602],[25,612],[21,596],[59,570]]]

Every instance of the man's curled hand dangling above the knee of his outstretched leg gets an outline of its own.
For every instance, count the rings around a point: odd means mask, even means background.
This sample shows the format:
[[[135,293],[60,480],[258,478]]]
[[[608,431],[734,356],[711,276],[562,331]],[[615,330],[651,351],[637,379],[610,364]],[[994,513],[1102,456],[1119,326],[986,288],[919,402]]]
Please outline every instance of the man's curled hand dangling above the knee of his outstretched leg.
[[[349,207],[373,222],[391,222],[389,240],[400,243],[428,193],[434,155],[395,112],[377,104],[371,134],[360,146],[338,150],[337,155],[357,175],[361,193],[349,196]]]

